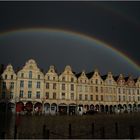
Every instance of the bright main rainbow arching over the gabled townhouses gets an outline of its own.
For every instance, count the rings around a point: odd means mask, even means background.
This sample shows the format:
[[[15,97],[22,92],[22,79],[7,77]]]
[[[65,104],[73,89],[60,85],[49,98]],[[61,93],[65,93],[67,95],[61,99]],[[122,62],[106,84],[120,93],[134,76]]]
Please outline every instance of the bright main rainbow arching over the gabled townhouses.
[[[51,32],[51,33],[56,33],[56,32],[61,32],[63,34],[67,34],[67,35],[71,35],[74,37],[79,37],[80,39],[85,39],[87,41],[90,42],[94,42],[97,43],[105,48],[110,49],[112,52],[115,52],[117,55],[119,55],[122,59],[126,60],[129,64],[131,64],[134,68],[136,68],[137,70],[140,70],[140,66],[133,61],[130,57],[128,57],[126,54],[122,53],[120,50],[114,48],[111,45],[106,44],[105,42],[96,39],[95,37],[92,36],[88,36],[85,35],[83,33],[80,32],[74,32],[74,31],[70,31],[70,30],[65,30],[65,29],[58,29],[58,28],[26,28],[26,29],[15,29],[15,30],[10,30],[7,32],[1,32],[0,36],[4,36],[4,35],[9,35],[9,34],[14,34],[17,32],[36,32],[36,31],[40,31],[40,32]]]

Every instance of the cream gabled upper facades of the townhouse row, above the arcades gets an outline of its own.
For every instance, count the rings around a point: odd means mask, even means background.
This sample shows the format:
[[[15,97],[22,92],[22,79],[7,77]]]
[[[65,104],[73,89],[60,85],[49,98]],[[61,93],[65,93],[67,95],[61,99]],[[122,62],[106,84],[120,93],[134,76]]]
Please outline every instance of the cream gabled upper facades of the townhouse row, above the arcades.
[[[98,70],[76,74],[70,66],[60,74],[54,66],[43,73],[35,60],[30,59],[17,72],[11,64],[7,65],[1,75],[0,99],[14,104],[82,105],[87,109],[91,105],[140,106],[140,77],[113,76],[111,72],[101,76]]]

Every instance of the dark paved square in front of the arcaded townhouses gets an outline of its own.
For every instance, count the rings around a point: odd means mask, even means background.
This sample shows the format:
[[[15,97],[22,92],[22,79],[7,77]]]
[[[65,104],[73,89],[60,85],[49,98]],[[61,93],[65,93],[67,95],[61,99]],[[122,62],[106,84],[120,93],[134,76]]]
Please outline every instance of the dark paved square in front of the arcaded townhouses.
[[[47,137],[48,133],[49,138],[140,138],[140,113],[89,116],[22,116],[3,113],[0,114],[0,124],[0,133],[5,132],[5,138],[14,138],[15,125],[16,138],[40,139]]]

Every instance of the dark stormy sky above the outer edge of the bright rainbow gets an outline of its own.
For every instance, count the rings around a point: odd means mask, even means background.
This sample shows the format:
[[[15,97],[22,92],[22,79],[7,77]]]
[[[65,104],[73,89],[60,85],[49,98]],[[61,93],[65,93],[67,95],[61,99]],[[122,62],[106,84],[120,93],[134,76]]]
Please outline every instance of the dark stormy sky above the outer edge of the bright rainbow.
[[[105,41],[139,62],[139,13],[140,2],[130,1],[0,2],[0,32],[29,27],[72,30]]]

